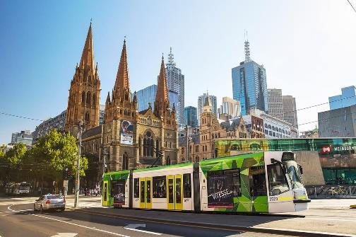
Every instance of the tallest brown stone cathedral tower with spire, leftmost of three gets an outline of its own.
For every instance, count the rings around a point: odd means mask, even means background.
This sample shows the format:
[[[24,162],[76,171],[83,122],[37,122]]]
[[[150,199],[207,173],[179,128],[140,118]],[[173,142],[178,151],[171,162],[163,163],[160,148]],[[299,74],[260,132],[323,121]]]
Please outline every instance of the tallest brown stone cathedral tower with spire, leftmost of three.
[[[75,137],[78,123],[83,121],[83,129],[99,125],[100,79],[97,64],[94,67],[94,48],[92,23],[85,40],[80,64],[71,80],[69,89],[68,108],[66,110],[66,131]]]

